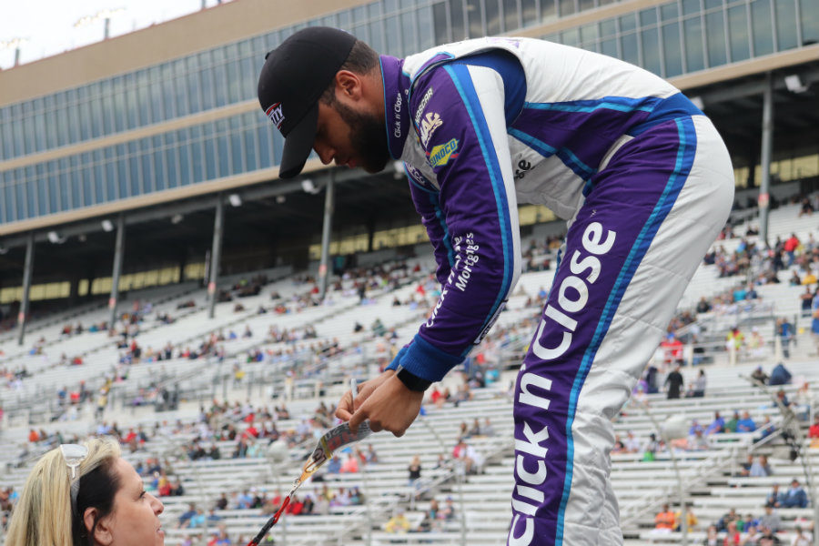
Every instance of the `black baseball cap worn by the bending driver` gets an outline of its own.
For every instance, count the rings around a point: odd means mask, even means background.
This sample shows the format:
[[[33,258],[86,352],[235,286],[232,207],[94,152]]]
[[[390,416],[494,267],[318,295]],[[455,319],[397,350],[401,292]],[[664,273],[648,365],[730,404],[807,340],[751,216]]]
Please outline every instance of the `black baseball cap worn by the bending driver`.
[[[319,124],[319,97],[349,56],[356,37],[338,28],[310,26],[265,56],[258,102],[285,137],[278,176],[298,175]]]

